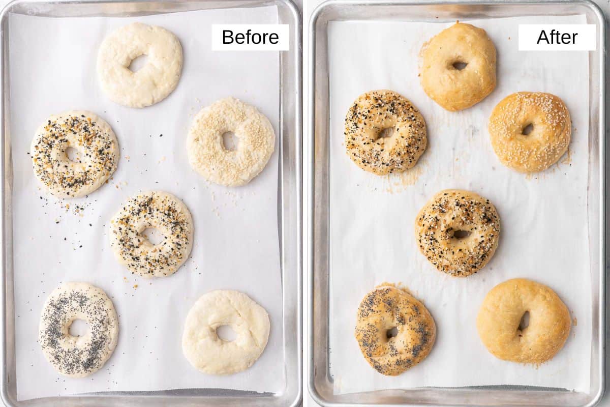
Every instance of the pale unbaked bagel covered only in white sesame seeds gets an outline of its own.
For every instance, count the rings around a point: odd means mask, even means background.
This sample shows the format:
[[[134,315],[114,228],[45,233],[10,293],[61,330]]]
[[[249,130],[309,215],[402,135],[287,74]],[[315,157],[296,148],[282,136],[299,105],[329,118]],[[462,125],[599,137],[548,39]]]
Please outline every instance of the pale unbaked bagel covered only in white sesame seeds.
[[[233,132],[237,149],[224,147],[223,134]],[[204,107],[188,131],[191,167],[208,181],[228,187],[248,184],[265,168],[275,148],[268,118],[239,99],[224,98]]]

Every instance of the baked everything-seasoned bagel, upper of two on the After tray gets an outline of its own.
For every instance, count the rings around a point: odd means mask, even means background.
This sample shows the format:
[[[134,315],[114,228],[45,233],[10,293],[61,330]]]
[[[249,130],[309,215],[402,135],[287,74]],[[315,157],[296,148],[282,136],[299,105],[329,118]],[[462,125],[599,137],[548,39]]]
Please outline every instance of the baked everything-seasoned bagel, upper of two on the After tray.
[[[384,137],[386,131],[390,135]],[[426,149],[426,123],[408,99],[392,90],[358,96],[345,117],[345,148],[351,160],[376,175],[417,164]]]

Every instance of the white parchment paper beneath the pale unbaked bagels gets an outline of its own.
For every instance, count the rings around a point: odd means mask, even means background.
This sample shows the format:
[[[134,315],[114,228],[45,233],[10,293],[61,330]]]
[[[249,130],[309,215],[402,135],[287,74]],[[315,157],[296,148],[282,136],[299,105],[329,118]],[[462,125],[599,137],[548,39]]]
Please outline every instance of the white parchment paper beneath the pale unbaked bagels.
[[[178,87],[145,109],[112,103],[96,77],[99,43],[132,21],[169,29],[184,50]],[[212,23],[277,21],[275,6],[138,18],[10,15],[18,400],[100,391],[284,388],[277,204],[279,56],[212,52],[209,42]],[[190,168],[186,154],[187,130],[195,113],[225,96],[258,107],[278,136],[265,170],[239,188],[207,183]],[[62,201],[40,190],[27,152],[37,126],[51,113],[70,109],[88,109],[108,121],[117,134],[121,160],[109,184],[87,198]],[[113,258],[107,222],[129,196],[153,189],[173,193],[187,204],[195,237],[191,258],[176,274],[144,279]],[[86,281],[104,289],[120,320],[115,352],[87,378],[60,377],[37,344],[41,306],[63,281]],[[199,296],[213,289],[245,292],[270,315],[267,348],[253,367],[236,375],[205,375],[182,355],[187,312]]]

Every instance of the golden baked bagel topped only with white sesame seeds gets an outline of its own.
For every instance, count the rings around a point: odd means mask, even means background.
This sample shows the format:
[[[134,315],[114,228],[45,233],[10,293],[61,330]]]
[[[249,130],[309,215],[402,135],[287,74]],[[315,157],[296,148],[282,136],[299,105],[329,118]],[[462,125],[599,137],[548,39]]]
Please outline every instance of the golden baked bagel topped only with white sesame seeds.
[[[531,126],[531,132],[524,130]],[[564,101],[542,92],[506,96],[489,118],[493,151],[507,167],[522,173],[546,170],[564,155],[572,122]]]

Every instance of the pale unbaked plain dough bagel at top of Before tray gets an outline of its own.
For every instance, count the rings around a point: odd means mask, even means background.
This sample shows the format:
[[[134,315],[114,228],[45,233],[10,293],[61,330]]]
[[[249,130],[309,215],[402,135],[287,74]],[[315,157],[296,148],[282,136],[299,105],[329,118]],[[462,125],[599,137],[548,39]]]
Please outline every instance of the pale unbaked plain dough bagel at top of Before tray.
[[[148,57],[133,72],[132,60]],[[178,85],[182,71],[182,46],[163,27],[131,23],[108,35],[98,51],[98,78],[104,93],[115,103],[146,107],[165,99]]]

